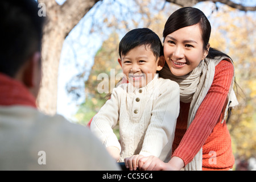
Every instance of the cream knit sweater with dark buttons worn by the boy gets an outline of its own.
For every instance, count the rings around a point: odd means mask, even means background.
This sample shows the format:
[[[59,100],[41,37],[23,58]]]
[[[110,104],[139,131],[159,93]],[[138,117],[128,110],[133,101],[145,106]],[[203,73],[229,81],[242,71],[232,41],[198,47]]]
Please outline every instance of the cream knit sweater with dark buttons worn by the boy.
[[[154,155],[168,162],[179,115],[179,95],[176,82],[158,76],[142,88],[121,84],[94,116],[91,130],[105,147],[119,148],[119,162],[136,154]],[[120,143],[113,133],[118,121]]]

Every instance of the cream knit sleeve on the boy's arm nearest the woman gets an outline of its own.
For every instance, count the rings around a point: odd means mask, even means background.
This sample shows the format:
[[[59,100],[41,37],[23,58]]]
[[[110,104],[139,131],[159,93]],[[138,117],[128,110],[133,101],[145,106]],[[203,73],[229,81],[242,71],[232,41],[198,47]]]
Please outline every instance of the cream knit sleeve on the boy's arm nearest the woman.
[[[143,156],[154,155],[159,157],[163,149],[168,155],[174,140],[176,119],[179,115],[180,106],[179,85],[168,80],[161,84],[158,89],[161,94],[152,107],[150,125],[148,125],[142,150],[139,153]]]

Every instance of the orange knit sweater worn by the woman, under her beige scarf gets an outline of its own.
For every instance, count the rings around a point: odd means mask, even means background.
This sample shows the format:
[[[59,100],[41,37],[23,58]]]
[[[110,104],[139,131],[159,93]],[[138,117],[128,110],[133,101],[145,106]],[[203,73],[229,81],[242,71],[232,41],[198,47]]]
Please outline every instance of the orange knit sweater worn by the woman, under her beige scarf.
[[[233,77],[233,65],[222,60],[215,68],[212,86],[187,129],[190,103],[180,102],[173,155],[187,165],[203,147],[203,170],[228,170],[233,167],[231,139],[226,122],[221,123],[222,109]],[[216,156],[216,158],[215,158]]]

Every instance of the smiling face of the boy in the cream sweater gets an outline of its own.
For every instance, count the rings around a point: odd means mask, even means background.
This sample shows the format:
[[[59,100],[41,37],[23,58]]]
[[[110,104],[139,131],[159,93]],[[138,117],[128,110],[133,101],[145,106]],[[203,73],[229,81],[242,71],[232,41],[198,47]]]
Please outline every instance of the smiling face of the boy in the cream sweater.
[[[160,59],[164,64],[163,56]],[[147,85],[154,78],[156,71],[163,68],[163,64],[158,65],[159,58],[156,60],[150,47],[144,45],[131,49],[125,56],[121,55],[118,62],[126,79],[138,88]]]

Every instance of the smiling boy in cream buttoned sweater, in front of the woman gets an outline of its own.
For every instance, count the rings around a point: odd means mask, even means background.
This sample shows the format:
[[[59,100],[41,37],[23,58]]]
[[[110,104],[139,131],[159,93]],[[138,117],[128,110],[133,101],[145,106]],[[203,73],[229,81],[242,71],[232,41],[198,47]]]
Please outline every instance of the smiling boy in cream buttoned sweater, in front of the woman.
[[[111,98],[94,116],[90,129],[115,160],[136,169],[143,156],[171,158],[179,86],[158,78],[165,63],[162,43],[148,28],[128,32],[119,43],[119,64],[129,83],[113,89]],[[119,121],[120,143],[113,133]]]

